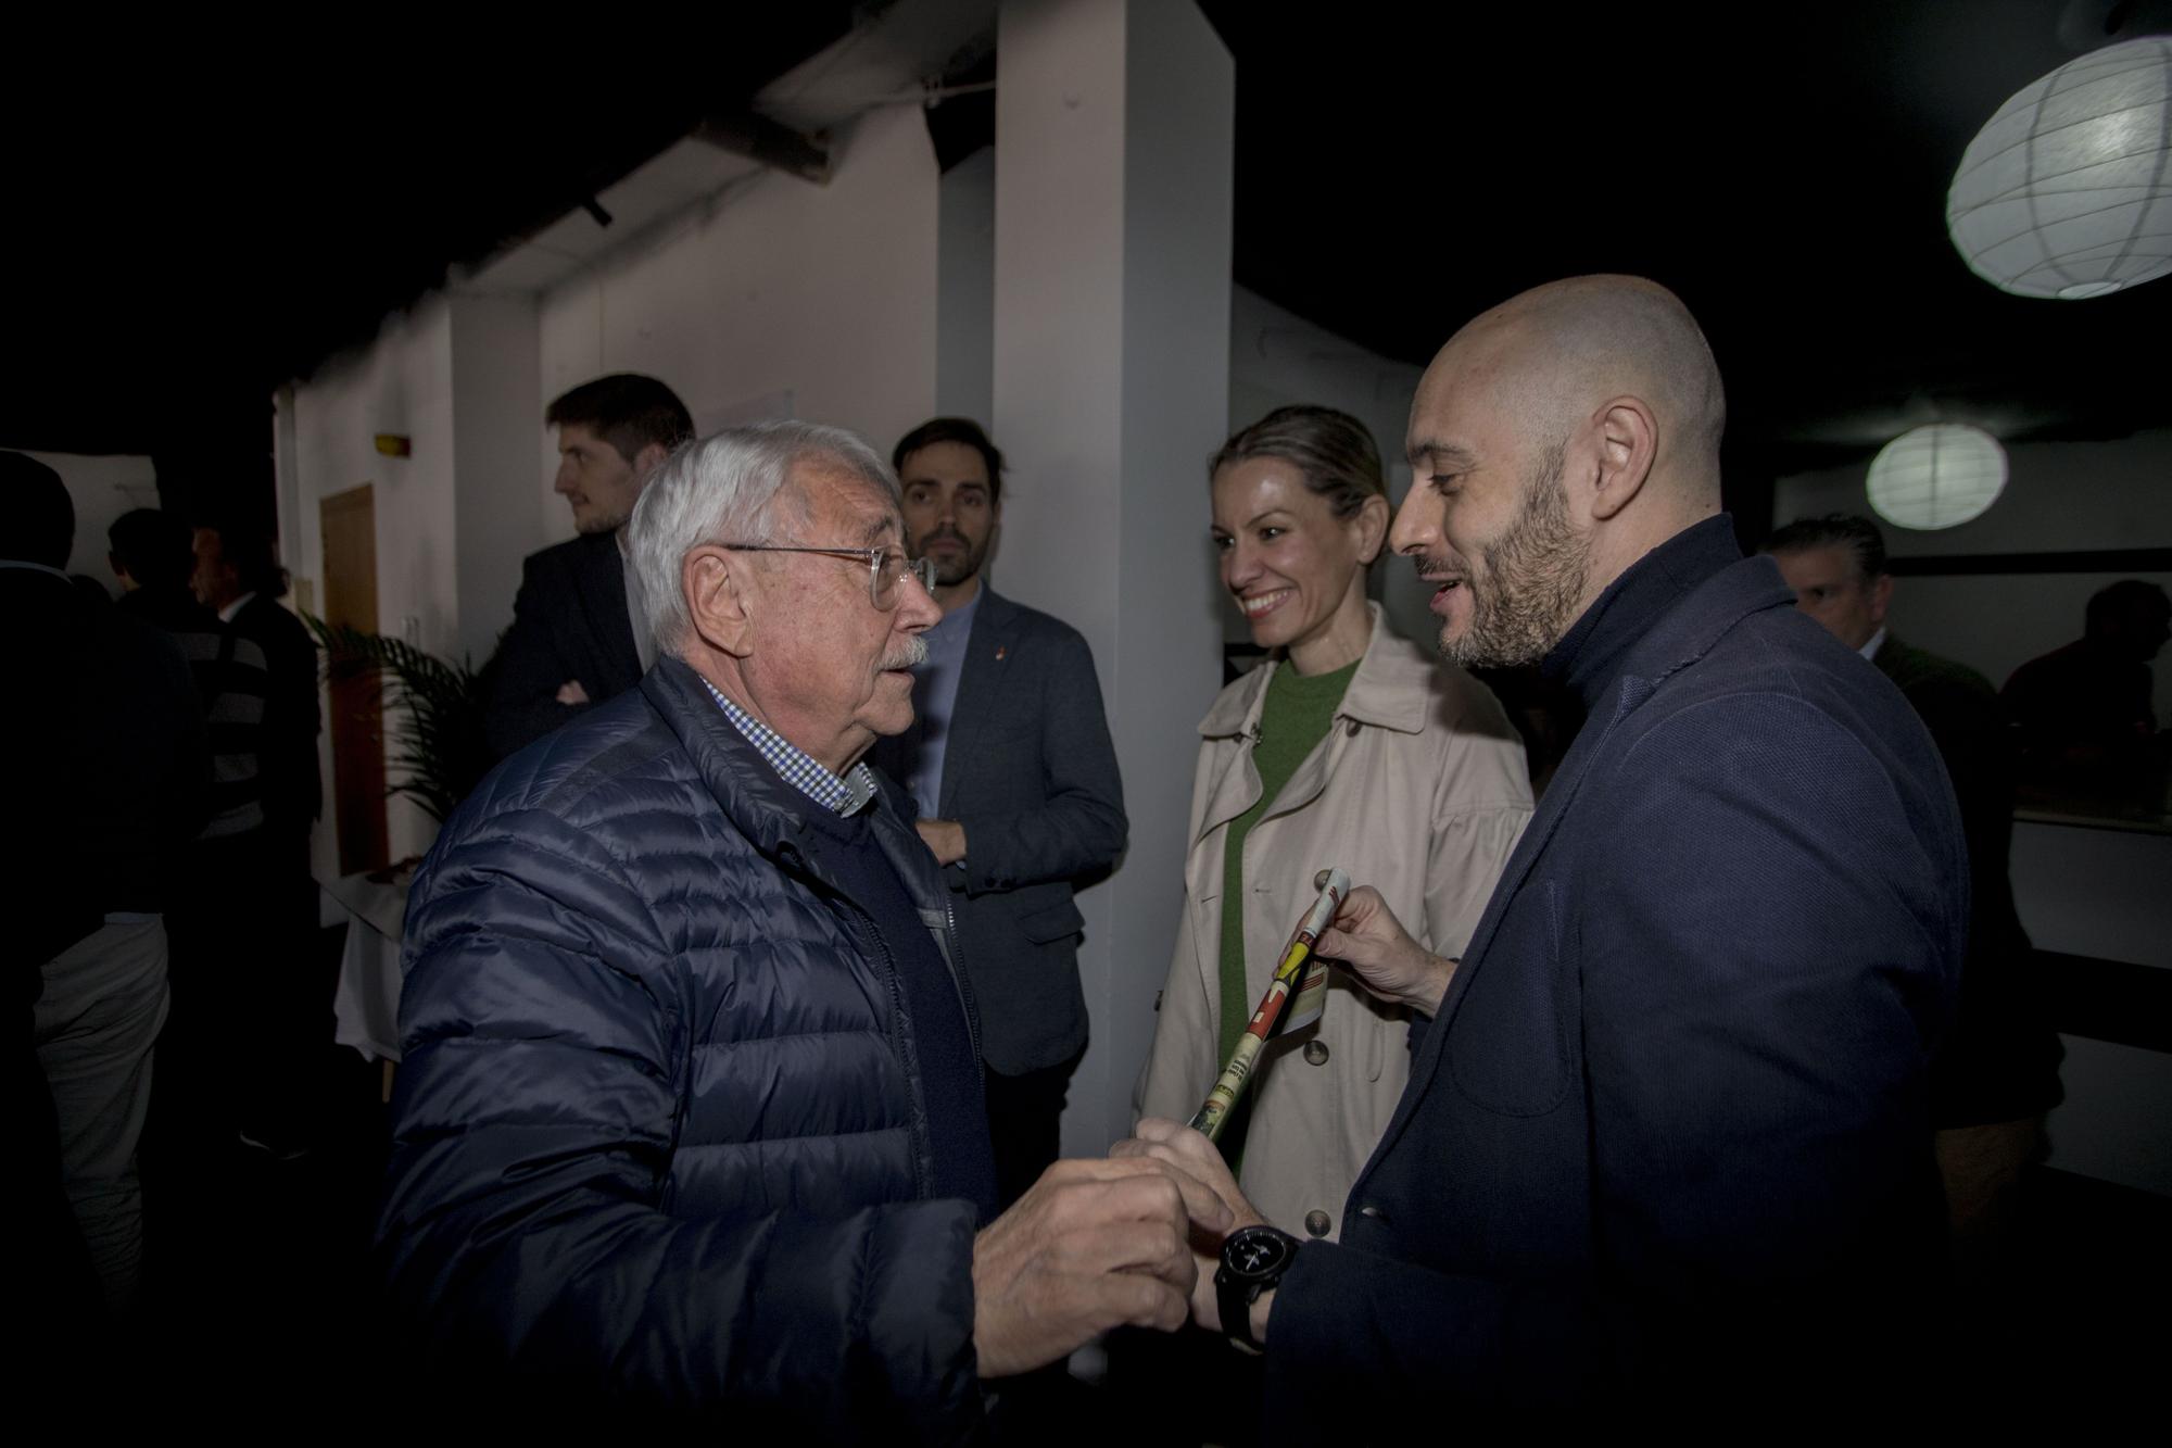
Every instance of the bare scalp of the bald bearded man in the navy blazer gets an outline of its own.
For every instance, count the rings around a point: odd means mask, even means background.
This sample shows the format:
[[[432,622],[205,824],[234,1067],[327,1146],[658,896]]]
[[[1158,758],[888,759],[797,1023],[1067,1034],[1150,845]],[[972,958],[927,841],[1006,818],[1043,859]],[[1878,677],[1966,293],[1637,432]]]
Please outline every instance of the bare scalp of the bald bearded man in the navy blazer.
[[[1442,365],[1447,363],[1447,365]],[[1651,480],[1718,504],[1727,394],[1696,317],[1642,276],[1570,276],[1514,296],[1440,348],[1427,383],[1462,378],[1492,389],[1540,435],[1564,439],[1607,402],[1651,409]]]

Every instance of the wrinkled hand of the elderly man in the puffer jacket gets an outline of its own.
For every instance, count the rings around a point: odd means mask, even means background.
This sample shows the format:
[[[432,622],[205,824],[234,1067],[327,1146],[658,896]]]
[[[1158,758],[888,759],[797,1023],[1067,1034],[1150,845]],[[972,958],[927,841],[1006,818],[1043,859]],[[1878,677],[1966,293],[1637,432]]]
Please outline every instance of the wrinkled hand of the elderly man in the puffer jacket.
[[[980,1376],[1027,1372],[1112,1326],[1184,1326],[1188,1224],[1229,1226],[1221,1198],[1160,1161],[1058,1161],[973,1239]]]

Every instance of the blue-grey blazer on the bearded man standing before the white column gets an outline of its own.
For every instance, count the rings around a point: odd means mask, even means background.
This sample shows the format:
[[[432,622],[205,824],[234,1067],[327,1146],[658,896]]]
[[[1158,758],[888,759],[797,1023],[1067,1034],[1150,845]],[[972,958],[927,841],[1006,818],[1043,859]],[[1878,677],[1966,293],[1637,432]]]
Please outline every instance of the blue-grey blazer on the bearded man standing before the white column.
[[[869,759],[904,778],[919,720]],[[1123,854],[1123,781],[1101,683],[1077,628],[982,583],[943,752],[943,817],[967,859],[945,870],[980,1002],[982,1054],[1016,1076],[1086,1046],[1073,883]]]

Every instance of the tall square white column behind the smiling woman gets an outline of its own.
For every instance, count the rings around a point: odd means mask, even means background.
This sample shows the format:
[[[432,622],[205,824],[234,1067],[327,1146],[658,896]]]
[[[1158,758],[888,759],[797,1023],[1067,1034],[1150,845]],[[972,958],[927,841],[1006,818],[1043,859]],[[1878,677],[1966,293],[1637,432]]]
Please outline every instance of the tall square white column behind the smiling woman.
[[[1066,1154],[1129,1126],[1221,685],[1205,461],[1229,417],[1236,67],[1188,0],[1006,0],[997,33],[997,587],[1093,644],[1132,848],[1086,891]],[[1201,1083],[1205,1089],[1208,1083]]]

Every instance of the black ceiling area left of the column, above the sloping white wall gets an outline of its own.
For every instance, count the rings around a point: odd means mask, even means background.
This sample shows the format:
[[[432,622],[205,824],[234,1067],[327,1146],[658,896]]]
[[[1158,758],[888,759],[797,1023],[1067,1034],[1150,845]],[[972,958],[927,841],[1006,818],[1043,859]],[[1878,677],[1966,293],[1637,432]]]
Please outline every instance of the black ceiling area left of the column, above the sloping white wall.
[[[847,33],[854,4],[161,43],[50,37],[0,89],[0,446],[250,459],[269,396]],[[528,24],[515,22],[515,24]],[[545,33],[556,30],[556,33]],[[191,467],[195,463],[189,463]]]

